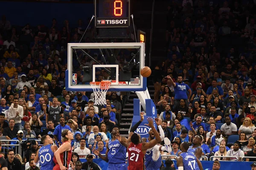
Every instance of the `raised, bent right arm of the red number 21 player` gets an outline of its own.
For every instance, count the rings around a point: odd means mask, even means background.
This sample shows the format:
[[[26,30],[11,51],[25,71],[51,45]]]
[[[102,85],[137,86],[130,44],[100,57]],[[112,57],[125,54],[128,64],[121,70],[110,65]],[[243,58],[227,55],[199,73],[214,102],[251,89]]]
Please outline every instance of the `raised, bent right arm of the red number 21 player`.
[[[151,127],[151,129],[153,130],[154,134],[155,134],[155,139],[151,140],[150,142],[145,142],[142,145],[142,150],[146,151],[151,147],[154,147],[156,144],[158,144],[159,142],[161,142],[161,138],[160,135],[158,134],[156,128],[153,125],[153,119],[151,117],[148,117],[148,124],[145,124],[149,127]]]

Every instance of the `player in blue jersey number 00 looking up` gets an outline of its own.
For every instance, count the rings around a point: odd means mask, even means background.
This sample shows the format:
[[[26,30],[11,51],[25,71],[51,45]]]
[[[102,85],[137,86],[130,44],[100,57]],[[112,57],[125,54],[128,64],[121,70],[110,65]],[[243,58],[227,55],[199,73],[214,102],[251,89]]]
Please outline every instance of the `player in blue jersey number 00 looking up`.
[[[53,145],[54,142],[49,135],[42,136],[41,142],[44,146],[37,151],[35,163],[40,161],[41,170],[52,170],[55,166],[55,163],[53,162],[54,153],[58,147]]]

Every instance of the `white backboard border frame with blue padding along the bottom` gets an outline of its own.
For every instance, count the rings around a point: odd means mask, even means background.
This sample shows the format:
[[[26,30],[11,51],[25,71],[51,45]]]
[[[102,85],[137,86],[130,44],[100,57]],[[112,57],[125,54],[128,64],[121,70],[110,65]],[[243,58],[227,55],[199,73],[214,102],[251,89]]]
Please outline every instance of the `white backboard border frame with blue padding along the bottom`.
[[[72,49],[87,48],[139,48],[140,68],[145,66],[145,43],[125,42],[125,43],[68,43],[67,44],[67,70],[65,72],[65,86],[67,91],[93,91],[90,85],[72,85]],[[102,65],[104,67],[104,65]],[[134,77],[131,77],[134,78]],[[114,85],[111,84],[108,91],[145,91],[147,89],[147,79],[140,75],[140,84]]]

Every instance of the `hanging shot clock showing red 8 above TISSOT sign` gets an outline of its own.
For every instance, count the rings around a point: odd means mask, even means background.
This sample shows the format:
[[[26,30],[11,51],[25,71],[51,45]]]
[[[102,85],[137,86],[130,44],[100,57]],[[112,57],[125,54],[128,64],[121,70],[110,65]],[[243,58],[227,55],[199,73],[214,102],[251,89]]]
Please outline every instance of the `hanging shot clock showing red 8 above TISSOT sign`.
[[[130,26],[130,0],[94,0],[95,27]]]

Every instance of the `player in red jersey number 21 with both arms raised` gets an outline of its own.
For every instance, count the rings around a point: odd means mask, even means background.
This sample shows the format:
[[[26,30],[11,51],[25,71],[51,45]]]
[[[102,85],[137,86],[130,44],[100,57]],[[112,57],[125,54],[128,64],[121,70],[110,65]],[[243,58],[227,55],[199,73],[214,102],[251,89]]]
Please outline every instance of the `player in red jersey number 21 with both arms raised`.
[[[134,133],[134,131],[139,127],[140,123],[144,119],[143,114],[144,113],[140,113],[140,121],[131,127],[131,132],[128,136],[128,170],[145,170],[146,151],[161,141],[160,135],[157,133],[157,130],[153,125],[153,119],[151,117],[147,119],[148,124],[145,125],[151,127],[155,134],[155,139],[151,140],[150,142],[141,143],[140,135]]]

